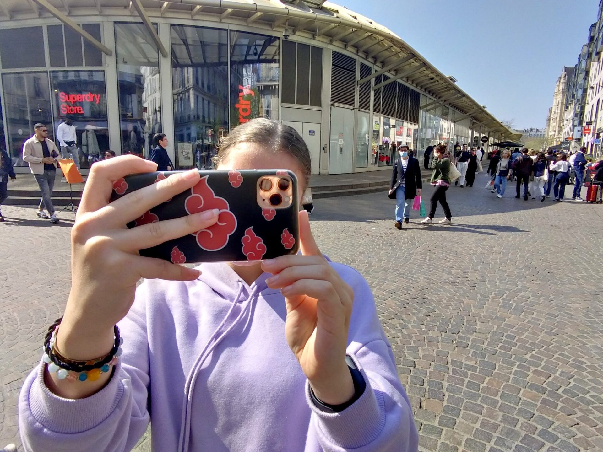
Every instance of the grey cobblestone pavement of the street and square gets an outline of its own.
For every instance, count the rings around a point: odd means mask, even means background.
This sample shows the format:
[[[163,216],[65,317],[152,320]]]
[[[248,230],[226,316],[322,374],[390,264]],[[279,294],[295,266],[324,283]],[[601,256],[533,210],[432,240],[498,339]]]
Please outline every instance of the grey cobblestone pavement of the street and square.
[[[312,228],[373,287],[420,450],[603,451],[603,206],[523,201],[511,187],[497,199],[484,184],[451,187],[452,225],[412,212],[397,231],[377,193],[318,200]],[[22,379],[65,304],[71,225],[3,212],[0,447],[17,442]]]

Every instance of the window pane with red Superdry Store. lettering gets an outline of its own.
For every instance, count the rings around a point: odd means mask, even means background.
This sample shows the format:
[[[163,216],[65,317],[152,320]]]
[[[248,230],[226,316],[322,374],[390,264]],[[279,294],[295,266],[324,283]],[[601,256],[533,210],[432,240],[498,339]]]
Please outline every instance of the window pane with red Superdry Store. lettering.
[[[109,149],[104,71],[51,71],[54,133],[69,118],[75,125],[80,168],[90,168]],[[57,137],[57,145],[65,145]]]

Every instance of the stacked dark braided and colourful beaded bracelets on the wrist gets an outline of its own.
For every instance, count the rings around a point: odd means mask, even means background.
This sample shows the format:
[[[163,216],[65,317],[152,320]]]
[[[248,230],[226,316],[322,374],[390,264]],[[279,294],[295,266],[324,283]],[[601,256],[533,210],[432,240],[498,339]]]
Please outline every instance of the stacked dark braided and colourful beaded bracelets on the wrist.
[[[62,318],[57,319],[48,328],[44,341],[43,361],[48,364],[49,372],[56,372],[59,380],[67,378],[71,381],[95,381],[102,373],[109,372],[112,366],[115,366],[118,357],[122,354],[120,345],[124,342],[119,336],[117,325],[114,327],[115,344],[107,356],[90,361],[74,361],[63,357],[55,348],[56,334],[61,321]]]

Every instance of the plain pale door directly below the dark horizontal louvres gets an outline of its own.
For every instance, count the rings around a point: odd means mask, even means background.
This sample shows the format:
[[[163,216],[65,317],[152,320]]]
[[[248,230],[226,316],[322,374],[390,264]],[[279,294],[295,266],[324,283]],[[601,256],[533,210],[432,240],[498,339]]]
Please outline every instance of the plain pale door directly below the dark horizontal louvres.
[[[329,174],[351,173],[354,146],[354,110],[331,107]]]

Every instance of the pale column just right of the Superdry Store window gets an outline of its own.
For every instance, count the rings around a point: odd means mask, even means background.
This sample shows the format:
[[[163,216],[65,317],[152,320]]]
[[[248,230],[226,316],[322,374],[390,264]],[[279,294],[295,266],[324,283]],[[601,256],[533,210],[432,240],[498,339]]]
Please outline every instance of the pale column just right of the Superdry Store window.
[[[117,81],[117,49],[115,48],[115,27],[113,22],[101,22],[103,27],[103,43],[113,51],[110,57],[104,55],[105,84],[107,89],[107,116],[109,122],[109,148],[116,154],[122,153],[121,149],[121,124],[119,112],[119,86]]]

